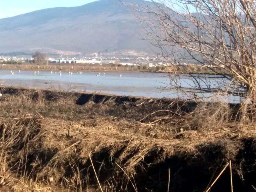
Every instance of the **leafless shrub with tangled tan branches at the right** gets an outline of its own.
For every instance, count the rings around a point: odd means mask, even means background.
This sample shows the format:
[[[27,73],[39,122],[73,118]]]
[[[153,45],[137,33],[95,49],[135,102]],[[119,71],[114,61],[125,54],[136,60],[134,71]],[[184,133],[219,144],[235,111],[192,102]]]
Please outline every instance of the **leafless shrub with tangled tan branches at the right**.
[[[160,49],[160,60],[172,66],[192,63],[220,74],[222,80],[213,85],[202,76],[188,74],[192,90],[232,94],[255,105],[255,1],[141,0],[132,8],[146,39]],[[170,88],[186,88],[176,83],[177,76],[170,78]],[[255,115],[255,106],[250,107]]]

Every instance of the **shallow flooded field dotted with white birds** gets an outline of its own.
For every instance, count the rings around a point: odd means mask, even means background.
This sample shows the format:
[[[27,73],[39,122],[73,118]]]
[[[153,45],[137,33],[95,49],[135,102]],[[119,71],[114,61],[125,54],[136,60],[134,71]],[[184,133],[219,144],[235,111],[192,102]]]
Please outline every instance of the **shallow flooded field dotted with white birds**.
[[[210,77],[210,76],[209,76]],[[214,86],[215,82],[222,79],[209,80]],[[60,72],[60,71],[17,71],[0,70],[0,84],[6,86],[22,86],[30,88],[52,88],[61,90],[74,90],[86,92],[104,92],[108,94],[143,96],[153,98],[192,98],[190,92],[178,92],[168,89],[170,76],[164,73],[143,72]],[[193,80],[180,76],[178,84],[191,88]],[[203,84],[203,83],[202,83]],[[212,94],[201,94],[210,97]],[[237,102],[238,98],[222,98],[226,102]]]

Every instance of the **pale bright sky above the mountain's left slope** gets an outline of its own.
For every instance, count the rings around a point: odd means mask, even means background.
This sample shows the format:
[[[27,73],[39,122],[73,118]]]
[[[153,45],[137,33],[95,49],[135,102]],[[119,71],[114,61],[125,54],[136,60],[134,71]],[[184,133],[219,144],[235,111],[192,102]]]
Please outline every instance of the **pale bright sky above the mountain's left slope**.
[[[96,0],[0,0],[0,18],[52,7],[80,6]]]

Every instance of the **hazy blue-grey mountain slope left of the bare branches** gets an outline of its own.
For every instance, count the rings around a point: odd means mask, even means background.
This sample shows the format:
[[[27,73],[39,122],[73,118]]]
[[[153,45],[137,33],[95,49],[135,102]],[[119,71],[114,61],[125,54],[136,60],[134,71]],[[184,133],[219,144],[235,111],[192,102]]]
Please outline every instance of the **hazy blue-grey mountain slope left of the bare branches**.
[[[119,0],[100,0],[0,19],[0,52],[150,53],[143,35],[127,6]]]

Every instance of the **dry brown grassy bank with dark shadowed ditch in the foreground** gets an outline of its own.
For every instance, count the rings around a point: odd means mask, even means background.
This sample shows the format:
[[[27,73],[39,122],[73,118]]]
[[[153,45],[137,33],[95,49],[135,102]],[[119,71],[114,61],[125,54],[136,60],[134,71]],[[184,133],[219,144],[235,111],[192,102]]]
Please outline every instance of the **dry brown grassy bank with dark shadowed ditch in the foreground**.
[[[237,116],[238,106],[0,92],[2,190],[204,191],[230,160],[234,191],[256,186],[256,126]],[[229,190],[226,170],[211,191]]]

